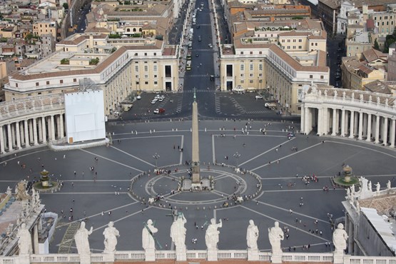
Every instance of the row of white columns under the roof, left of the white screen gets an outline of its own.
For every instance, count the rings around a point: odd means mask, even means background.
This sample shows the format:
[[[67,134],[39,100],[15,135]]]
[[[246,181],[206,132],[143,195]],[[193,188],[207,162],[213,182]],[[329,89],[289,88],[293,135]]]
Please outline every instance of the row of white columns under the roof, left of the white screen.
[[[23,118],[23,117],[22,117]],[[46,144],[65,137],[64,113],[0,124],[0,153]]]

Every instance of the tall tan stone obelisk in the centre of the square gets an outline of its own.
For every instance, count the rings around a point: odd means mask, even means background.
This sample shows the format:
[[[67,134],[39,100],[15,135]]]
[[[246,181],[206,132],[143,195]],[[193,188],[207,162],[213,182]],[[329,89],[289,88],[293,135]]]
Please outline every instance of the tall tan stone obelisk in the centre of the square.
[[[192,185],[200,185],[199,176],[199,136],[198,136],[198,103],[196,101],[196,89],[194,88],[194,101],[193,101],[193,125],[192,125],[192,138],[193,138],[193,160],[191,166],[192,172]]]

